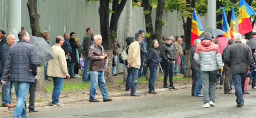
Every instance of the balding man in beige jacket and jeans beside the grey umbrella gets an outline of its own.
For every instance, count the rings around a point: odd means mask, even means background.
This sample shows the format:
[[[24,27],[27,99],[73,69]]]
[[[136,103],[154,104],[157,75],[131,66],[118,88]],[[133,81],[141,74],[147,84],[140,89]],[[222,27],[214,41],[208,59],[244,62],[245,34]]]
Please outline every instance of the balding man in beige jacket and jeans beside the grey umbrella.
[[[48,62],[47,75],[53,77],[53,95],[52,106],[64,106],[59,102],[59,95],[63,87],[63,79],[70,78],[68,66],[66,65],[66,57],[64,50],[60,47],[63,45],[64,39],[62,36],[56,37],[56,44],[52,46],[54,59]]]

